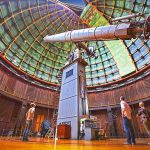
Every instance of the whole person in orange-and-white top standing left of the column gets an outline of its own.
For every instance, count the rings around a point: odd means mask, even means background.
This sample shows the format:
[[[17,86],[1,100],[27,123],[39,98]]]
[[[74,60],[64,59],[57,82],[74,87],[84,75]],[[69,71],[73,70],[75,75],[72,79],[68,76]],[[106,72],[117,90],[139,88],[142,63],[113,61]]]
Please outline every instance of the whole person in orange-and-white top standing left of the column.
[[[30,108],[26,113],[26,125],[25,125],[25,129],[23,132],[23,138],[22,138],[23,141],[28,141],[28,134],[30,132],[32,121],[34,118],[35,106],[36,106],[35,103],[31,103]]]

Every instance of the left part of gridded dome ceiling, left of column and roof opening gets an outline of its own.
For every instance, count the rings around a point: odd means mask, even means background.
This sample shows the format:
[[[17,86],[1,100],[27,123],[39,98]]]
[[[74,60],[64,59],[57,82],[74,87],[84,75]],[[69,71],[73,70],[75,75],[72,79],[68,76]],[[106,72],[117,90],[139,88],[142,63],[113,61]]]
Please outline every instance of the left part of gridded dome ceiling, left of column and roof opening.
[[[47,44],[47,34],[84,28],[81,19],[66,6],[49,0],[0,2],[0,51],[20,70],[58,84],[58,70],[74,44]]]

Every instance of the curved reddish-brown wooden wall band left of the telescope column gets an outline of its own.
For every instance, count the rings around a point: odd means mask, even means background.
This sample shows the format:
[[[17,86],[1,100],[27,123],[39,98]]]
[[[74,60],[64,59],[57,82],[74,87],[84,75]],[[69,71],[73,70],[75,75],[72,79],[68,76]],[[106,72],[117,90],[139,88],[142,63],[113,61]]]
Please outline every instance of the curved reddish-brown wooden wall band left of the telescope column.
[[[16,100],[27,103],[34,101],[38,105],[52,108],[58,105],[59,100],[58,92],[26,82],[2,66],[0,66],[0,91]]]

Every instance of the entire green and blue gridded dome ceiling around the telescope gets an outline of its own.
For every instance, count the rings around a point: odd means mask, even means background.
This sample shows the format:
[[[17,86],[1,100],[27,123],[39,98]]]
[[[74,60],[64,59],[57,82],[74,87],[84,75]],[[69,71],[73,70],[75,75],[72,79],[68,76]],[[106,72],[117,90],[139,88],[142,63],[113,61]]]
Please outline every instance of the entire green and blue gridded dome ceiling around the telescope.
[[[48,44],[43,38],[68,30],[105,26],[110,18],[149,13],[149,0],[93,0],[76,15],[50,0],[2,0],[0,2],[0,54],[20,71],[35,79],[59,84],[59,69],[75,49],[73,43]],[[150,40],[88,42],[97,59],[83,55],[88,86],[111,83],[137,72],[150,63]]]

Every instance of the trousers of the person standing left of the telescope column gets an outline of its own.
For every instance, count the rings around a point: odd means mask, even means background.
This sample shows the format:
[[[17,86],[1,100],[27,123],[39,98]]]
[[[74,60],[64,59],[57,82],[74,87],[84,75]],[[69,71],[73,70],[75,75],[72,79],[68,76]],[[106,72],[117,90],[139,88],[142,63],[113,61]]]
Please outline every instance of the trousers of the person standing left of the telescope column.
[[[28,134],[30,132],[31,125],[32,125],[32,120],[26,120],[26,126],[23,131],[23,140],[28,140]]]

